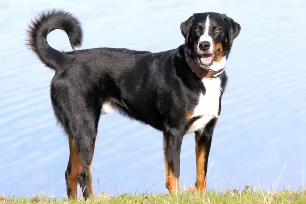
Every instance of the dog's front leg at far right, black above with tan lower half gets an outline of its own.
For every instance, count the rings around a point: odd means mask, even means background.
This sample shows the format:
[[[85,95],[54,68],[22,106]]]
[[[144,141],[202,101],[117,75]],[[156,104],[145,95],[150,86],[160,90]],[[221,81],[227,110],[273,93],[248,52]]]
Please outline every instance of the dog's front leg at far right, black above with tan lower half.
[[[196,189],[198,192],[206,190],[206,174],[211,140],[217,118],[212,119],[206,127],[196,132]]]

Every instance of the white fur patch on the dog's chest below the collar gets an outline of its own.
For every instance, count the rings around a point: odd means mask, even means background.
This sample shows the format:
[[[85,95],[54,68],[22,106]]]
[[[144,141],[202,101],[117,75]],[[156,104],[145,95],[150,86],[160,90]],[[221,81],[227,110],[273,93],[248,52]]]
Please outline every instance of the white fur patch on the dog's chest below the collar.
[[[200,93],[199,103],[194,109],[192,117],[202,116],[188,128],[186,134],[203,129],[206,124],[213,118],[218,118],[219,97],[221,94],[221,80],[202,79],[202,83],[206,89],[205,95]]]

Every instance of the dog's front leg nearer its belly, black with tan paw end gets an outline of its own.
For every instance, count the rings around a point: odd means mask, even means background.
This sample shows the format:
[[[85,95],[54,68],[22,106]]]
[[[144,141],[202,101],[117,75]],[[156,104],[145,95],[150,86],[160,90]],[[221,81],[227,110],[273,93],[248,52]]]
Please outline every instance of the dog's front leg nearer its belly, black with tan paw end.
[[[180,192],[180,157],[183,136],[183,128],[166,125],[164,130],[166,188],[170,193]]]

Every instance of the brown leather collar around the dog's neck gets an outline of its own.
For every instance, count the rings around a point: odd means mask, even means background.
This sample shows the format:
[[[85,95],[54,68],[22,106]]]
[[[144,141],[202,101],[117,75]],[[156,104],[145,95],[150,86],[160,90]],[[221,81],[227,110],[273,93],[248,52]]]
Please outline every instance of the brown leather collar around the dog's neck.
[[[216,78],[219,78],[221,76],[222,72],[225,69],[225,68],[223,68],[223,69],[220,69],[219,71],[212,71],[210,69],[202,68],[186,52],[185,52],[185,59],[186,59],[186,62],[188,64],[188,66],[192,70],[192,72],[194,72],[196,74],[196,76],[198,76],[200,79],[204,79],[204,78],[205,79],[216,79]]]

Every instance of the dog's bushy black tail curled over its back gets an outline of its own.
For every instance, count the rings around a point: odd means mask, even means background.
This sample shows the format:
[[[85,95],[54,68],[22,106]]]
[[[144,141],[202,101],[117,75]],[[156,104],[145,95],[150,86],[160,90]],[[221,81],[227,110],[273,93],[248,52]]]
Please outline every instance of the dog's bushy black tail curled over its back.
[[[81,23],[72,14],[63,10],[54,9],[40,13],[27,29],[27,45],[40,61],[51,69],[56,69],[64,58],[63,52],[55,50],[47,42],[47,35],[56,29],[66,32],[73,49],[81,46],[83,39]]]

